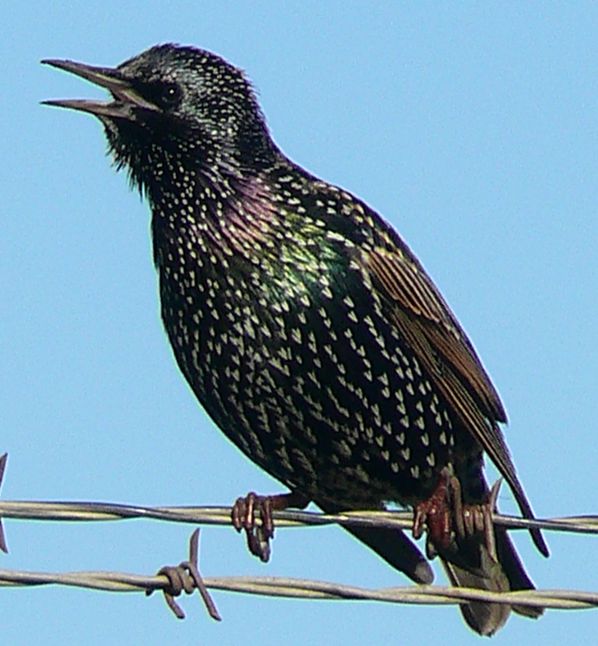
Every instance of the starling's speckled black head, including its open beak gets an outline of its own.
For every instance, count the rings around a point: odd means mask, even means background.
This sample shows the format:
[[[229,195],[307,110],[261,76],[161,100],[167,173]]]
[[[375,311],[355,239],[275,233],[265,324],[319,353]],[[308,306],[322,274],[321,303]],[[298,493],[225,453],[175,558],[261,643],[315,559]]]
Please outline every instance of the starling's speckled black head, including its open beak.
[[[194,47],[157,45],[118,67],[70,60],[45,64],[106,88],[110,101],[61,99],[45,104],[88,112],[104,124],[119,167],[148,187],[166,163],[200,169],[252,167],[274,145],[251,84],[236,67]],[[162,169],[163,170],[163,169]]]

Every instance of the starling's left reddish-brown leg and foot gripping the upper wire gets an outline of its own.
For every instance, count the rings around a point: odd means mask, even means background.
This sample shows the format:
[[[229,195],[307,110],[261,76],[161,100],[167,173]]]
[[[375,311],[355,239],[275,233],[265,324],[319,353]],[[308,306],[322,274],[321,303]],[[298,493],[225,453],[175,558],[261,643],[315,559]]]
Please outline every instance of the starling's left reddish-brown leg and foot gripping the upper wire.
[[[258,496],[250,491],[245,497],[237,498],[231,520],[238,532],[245,530],[249,551],[266,563],[270,558],[270,539],[274,538],[272,512],[289,507],[303,509],[308,504],[309,498],[295,491],[274,496]],[[256,509],[261,519],[259,525],[255,523]]]

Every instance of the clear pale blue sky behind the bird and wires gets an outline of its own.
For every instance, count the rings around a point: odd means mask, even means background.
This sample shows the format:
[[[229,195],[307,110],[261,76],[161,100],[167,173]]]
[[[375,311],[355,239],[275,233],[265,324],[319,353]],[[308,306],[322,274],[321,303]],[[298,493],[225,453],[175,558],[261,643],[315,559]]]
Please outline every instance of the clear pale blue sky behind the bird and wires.
[[[356,193],[408,240],[471,335],[509,413],[538,515],[596,512],[598,7],[589,2],[4,2],[0,136],[0,451],[4,499],[230,504],[280,491],[196,404],[158,316],[149,214],[91,117],[99,96],[45,57],[115,65],[158,42],[211,49],[253,79],[283,150]],[[503,490],[501,509],[514,511]],[[5,523],[1,568],[152,573],[189,526]],[[543,588],[598,588],[591,538],[548,535]],[[280,531],[270,564],[228,528],[206,575],[406,580],[338,529]],[[443,581],[436,567],[437,580]],[[159,595],[0,592],[3,641],[469,644],[454,608],[215,593],[177,622]],[[495,644],[595,638],[598,611],[513,617]],[[448,641],[447,641],[448,640]]]

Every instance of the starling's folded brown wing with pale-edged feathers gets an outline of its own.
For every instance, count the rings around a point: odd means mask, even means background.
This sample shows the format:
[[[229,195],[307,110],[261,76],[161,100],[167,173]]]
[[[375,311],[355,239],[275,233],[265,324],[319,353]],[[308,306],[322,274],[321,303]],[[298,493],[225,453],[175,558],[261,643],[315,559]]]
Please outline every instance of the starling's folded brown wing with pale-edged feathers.
[[[390,240],[386,239],[388,243]],[[533,512],[497,426],[505,410],[465,332],[415,257],[405,248],[364,252],[374,284],[396,304],[394,320],[438,389],[509,483],[524,516]],[[547,547],[532,531],[542,553]]]

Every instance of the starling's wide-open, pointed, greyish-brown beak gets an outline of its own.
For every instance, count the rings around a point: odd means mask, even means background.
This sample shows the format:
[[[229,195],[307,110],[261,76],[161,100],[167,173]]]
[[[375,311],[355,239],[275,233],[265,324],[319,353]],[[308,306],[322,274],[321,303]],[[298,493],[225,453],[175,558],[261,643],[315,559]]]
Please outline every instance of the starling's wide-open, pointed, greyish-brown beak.
[[[158,110],[157,106],[140,96],[133,89],[130,81],[125,79],[117,69],[93,67],[92,65],[85,65],[84,63],[59,59],[45,59],[42,63],[76,74],[100,87],[106,88],[114,96],[114,101],[110,102],[90,101],[87,99],[52,99],[42,101],[44,105],[54,105],[59,108],[70,108],[71,110],[89,112],[97,117],[127,120],[134,118],[134,108],[143,108],[154,112]]]

